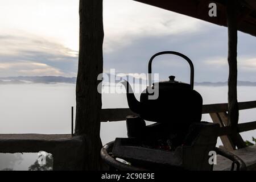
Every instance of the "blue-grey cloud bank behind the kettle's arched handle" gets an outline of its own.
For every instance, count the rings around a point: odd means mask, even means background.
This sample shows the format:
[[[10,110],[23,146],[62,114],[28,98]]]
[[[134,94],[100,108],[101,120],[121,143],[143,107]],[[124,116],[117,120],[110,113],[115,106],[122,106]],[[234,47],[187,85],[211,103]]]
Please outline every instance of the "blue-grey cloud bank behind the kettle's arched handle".
[[[105,69],[115,68],[122,73],[147,73],[148,60],[156,52],[177,51],[187,55],[195,67],[195,81],[228,80],[228,34],[226,27],[208,23],[198,32],[188,34],[139,36],[133,44],[119,47],[118,51],[104,55]],[[256,39],[238,32],[238,61],[256,57]],[[246,63],[246,61],[244,61]],[[247,65],[251,63],[247,62]],[[244,67],[245,65],[243,65]],[[177,56],[159,56],[154,60],[152,71],[159,73],[160,80],[174,75],[177,80],[189,82],[189,67]],[[239,65],[239,80],[255,81],[256,72],[249,72]]]

